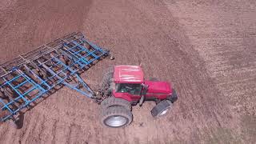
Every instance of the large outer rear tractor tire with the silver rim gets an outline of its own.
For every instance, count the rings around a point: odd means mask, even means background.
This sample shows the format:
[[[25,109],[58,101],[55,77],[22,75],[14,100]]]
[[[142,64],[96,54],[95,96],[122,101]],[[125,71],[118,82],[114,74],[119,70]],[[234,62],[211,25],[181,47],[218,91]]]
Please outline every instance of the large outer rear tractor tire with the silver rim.
[[[102,111],[103,126],[112,128],[128,126],[133,120],[133,114],[123,106],[112,106]]]

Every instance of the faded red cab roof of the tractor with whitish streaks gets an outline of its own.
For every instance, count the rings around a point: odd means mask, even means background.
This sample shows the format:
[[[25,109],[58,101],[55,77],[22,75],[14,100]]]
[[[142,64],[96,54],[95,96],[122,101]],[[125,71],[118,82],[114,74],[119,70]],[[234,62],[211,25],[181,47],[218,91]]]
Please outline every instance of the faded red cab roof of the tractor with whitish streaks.
[[[144,74],[140,66],[114,66],[114,82],[143,83]]]

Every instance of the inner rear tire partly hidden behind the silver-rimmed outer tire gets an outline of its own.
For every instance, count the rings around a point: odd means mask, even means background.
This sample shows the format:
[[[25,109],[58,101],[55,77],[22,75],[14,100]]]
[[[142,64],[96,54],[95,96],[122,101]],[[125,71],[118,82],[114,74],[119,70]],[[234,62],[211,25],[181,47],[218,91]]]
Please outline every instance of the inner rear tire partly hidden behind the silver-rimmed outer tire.
[[[126,110],[131,110],[130,102],[128,102],[122,98],[109,97],[109,98],[104,99],[101,103],[102,110],[106,110],[107,108],[109,108],[111,106],[122,106],[122,107],[126,108]]]

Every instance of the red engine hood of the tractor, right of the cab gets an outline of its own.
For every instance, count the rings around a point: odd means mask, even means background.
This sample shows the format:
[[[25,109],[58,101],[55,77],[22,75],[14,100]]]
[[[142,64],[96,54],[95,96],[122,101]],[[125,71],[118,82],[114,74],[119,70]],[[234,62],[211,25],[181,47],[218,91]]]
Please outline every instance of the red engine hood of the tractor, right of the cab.
[[[171,94],[172,89],[169,82],[145,81],[148,87],[147,93],[152,94]]]

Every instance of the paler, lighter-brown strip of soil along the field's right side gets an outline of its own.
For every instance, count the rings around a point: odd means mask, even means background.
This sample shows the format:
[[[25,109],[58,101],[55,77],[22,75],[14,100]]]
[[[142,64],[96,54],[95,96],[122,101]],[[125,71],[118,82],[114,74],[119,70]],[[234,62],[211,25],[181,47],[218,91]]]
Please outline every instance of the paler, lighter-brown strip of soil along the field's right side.
[[[256,107],[256,2],[165,2],[180,18],[193,46],[205,60],[210,77],[226,97],[226,106],[230,107],[233,121],[236,121],[230,122],[237,133],[235,137],[239,140],[246,135],[242,138],[245,140],[252,134],[242,130],[245,129],[243,121],[254,120]]]

